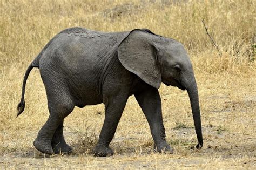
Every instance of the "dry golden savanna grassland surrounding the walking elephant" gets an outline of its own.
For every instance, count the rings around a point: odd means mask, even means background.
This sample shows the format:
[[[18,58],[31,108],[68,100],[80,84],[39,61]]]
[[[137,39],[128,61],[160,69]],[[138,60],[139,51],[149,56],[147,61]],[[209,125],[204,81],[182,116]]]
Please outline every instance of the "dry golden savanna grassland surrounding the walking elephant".
[[[256,166],[255,1],[1,1],[0,167],[207,168]],[[206,35],[201,19],[215,43]],[[186,91],[161,85],[167,141],[173,154],[152,152],[149,125],[130,97],[111,142],[112,157],[95,158],[104,105],[75,110],[64,122],[71,155],[44,155],[32,145],[48,118],[39,70],[26,84],[26,108],[16,118],[25,70],[59,31],[148,28],[183,43],[198,82],[204,147],[197,144]]]

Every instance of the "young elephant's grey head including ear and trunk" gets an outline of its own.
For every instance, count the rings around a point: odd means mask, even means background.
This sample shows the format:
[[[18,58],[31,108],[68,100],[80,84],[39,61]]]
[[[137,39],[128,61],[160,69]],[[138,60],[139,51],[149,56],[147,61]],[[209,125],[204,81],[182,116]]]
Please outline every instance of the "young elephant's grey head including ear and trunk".
[[[193,67],[184,46],[177,40],[149,30],[133,30],[118,46],[118,58],[130,72],[159,89],[161,82],[187,90],[190,97],[197,148],[203,146],[199,98]]]

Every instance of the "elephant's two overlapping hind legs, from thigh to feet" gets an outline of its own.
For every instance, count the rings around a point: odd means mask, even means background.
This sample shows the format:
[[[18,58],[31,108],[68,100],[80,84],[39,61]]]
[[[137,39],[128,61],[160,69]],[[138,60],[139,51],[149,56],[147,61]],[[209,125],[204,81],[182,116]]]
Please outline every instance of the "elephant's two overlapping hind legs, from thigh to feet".
[[[33,142],[38,151],[46,154],[71,152],[71,147],[66,144],[63,137],[63,121],[75,105],[65,91],[54,92],[50,93],[46,88],[50,116]]]

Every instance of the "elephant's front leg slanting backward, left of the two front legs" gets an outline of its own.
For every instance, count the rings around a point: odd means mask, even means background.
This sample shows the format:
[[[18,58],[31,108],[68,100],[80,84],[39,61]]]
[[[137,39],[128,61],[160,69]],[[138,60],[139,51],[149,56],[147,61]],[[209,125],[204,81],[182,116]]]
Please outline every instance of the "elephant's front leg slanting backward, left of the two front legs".
[[[105,104],[105,120],[102,131],[99,135],[98,144],[93,148],[96,157],[106,157],[113,155],[113,150],[109,147],[116,132],[117,125],[126,105],[127,97],[109,97]]]

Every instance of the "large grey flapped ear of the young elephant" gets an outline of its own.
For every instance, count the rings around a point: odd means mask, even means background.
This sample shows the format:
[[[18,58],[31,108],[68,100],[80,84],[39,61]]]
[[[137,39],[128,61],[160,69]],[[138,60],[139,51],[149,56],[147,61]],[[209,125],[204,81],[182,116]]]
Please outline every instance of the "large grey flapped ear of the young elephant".
[[[132,30],[117,49],[118,59],[125,69],[136,74],[147,84],[159,88],[160,67],[153,35],[144,30]]]

